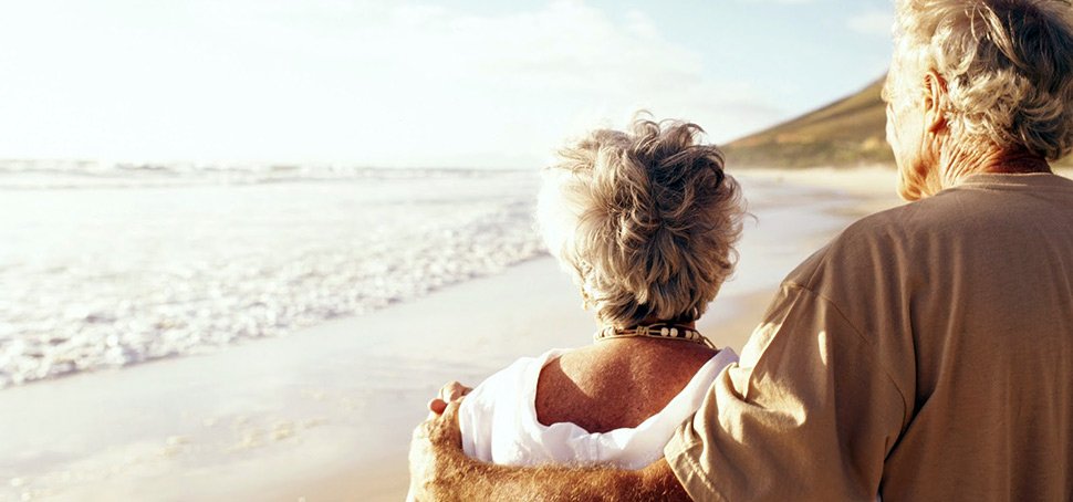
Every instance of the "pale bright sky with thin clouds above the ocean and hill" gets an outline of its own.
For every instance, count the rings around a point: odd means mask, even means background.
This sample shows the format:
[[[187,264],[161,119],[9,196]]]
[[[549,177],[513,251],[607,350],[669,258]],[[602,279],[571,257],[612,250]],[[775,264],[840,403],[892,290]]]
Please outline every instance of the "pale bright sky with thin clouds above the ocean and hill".
[[[0,0],[0,158],[546,164],[725,143],[879,79],[889,0]]]

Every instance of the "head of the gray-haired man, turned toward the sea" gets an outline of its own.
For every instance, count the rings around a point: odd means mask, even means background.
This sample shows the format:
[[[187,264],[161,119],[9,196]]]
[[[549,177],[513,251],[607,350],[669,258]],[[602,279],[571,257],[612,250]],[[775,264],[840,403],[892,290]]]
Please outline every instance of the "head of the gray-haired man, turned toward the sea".
[[[952,159],[1073,151],[1069,0],[897,0],[884,87],[909,200],[949,186]]]

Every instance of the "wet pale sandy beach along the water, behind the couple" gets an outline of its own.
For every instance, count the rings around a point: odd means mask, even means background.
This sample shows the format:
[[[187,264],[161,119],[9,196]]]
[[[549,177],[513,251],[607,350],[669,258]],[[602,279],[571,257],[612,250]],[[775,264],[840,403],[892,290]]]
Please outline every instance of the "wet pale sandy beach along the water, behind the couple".
[[[698,326],[735,349],[793,265],[899,203],[887,169],[740,177],[773,195],[750,206],[736,278]],[[590,343],[580,304],[542,255],[283,337],[4,389],[0,500],[400,500],[439,385]]]

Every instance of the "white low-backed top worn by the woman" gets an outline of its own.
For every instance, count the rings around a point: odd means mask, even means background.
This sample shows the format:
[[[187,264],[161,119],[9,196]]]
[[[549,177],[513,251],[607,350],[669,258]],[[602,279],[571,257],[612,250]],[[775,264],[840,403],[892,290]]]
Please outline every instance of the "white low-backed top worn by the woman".
[[[738,360],[733,351],[723,348],[663,410],[636,428],[590,433],[572,422],[544,426],[536,420],[540,370],[564,352],[522,357],[466,396],[458,410],[466,454],[506,466],[603,463],[640,469],[663,457],[675,429],[700,407],[722,368]]]

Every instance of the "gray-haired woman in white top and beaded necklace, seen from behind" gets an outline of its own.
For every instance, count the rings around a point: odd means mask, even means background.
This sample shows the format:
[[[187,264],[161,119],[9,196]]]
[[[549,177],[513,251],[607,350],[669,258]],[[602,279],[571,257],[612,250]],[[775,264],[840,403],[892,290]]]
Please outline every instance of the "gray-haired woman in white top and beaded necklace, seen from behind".
[[[546,169],[538,223],[601,328],[592,345],[519,359],[473,389],[459,410],[468,456],[643,468],[737,360],[695,325],[733,269],[742,213],[699,134],[638,119]]]

